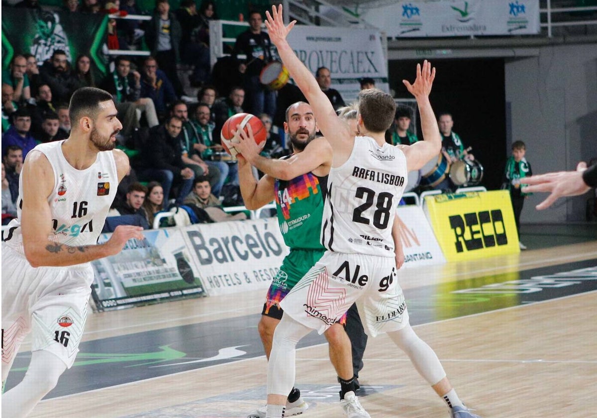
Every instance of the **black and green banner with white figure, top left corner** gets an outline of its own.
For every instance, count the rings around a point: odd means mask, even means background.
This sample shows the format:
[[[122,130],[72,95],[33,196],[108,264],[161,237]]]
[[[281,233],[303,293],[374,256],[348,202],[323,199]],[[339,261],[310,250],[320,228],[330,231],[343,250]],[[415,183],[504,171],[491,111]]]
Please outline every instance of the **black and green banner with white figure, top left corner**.
[[[2,7],[2,68],[15,54],[33,54],[38,65],[63,50],[71,64],[76,57],[91,57],[96,79],[106,74],[107,16]]]

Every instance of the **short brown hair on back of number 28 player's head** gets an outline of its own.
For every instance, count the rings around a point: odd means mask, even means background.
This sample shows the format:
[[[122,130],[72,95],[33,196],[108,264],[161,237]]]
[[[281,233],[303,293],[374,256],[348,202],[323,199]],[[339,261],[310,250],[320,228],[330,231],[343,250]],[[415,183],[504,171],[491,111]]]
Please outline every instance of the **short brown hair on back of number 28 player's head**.
[[[359,92],[359,113],[365,129],[371,132],[385,132],[394,121],[396,102],[390,94],[378,88]]]

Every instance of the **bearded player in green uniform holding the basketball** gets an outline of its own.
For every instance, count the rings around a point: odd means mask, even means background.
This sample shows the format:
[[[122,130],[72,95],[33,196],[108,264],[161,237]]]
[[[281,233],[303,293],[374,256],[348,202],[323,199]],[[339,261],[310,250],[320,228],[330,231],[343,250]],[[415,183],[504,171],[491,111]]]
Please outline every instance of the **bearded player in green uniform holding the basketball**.
[[[311,106],[297,102],[286,110],[284,130],[289,134],[293,154],[287,158],[269,159],[259,155],[260,147],[253,140],[243,140],[235,148],[238,158],[242,198],[247,209],[254,210],[276,201],[278,222],[290,254],[273,278],[261,312],[259,334],[266,356],[272,350],[273,331],[282,318],[279,303],[310,268],[319,260],[325,248],[319,242],[324,197],[327,194],[327,176],[330,172],[332,149],[318,131]],[[251,165],[266,173],[259,180],[253,176]],[[341,385],[340,398],[354,391],[352,352],[350,340],[340,322],[325,333],[330,343],[330,359]],[[288,395],[286,416],[303,413],[308,408],[298,389]],[[248,418],[266,416],[265,407],[257,409]]]

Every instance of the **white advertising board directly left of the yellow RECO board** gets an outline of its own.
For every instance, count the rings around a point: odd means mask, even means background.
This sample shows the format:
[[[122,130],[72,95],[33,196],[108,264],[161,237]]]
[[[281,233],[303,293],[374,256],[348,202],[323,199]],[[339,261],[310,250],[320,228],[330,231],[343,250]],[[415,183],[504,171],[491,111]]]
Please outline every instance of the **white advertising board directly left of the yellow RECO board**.
[[[445,263],[442,249],[420,206],[399,206],[398,219],[405,268]]]

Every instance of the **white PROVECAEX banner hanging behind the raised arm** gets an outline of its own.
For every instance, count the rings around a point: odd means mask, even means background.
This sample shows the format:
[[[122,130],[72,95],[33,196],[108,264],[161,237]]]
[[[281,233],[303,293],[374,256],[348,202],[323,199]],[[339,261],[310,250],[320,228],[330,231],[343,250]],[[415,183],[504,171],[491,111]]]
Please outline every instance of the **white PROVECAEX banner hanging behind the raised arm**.
[[[348,105],[361,90],[361,78],[373,78],[376,87],[389,92],[381,33],[374,29],[294,26],[288,43],[313,74],[330,69],[332,85]]]

